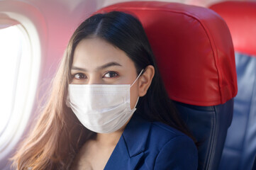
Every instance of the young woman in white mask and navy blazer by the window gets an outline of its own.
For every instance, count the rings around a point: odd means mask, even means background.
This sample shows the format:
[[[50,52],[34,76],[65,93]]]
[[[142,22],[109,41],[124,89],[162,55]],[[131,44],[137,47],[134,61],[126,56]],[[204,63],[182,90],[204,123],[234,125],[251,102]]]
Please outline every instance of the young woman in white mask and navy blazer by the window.
[[[17,169],[197,169],[188,135],[140,21],[113,11],[75,30],[13,159]]]

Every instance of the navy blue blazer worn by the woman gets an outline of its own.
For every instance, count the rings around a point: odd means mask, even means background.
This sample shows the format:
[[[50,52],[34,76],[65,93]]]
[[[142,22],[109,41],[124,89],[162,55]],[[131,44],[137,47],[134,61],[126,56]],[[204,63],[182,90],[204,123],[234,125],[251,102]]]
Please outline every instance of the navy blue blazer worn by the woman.
[[[133,115],[105,166],[115,169],[197,169],[197,149],[187,135]]]

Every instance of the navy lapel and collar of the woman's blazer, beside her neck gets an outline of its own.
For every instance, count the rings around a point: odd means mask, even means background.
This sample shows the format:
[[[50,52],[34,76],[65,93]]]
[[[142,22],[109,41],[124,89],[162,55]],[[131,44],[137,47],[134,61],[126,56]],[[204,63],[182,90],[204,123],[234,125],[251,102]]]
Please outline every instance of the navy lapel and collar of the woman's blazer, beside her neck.
[[[143,158],[150,127],[151,123],[133,115],[104,169],[135,169]]]

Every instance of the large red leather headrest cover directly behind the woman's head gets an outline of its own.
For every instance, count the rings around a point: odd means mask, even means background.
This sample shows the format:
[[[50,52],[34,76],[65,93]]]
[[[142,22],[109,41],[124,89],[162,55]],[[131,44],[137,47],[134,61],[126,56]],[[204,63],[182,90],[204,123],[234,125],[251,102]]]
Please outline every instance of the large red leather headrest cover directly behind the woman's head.
[[[214,106],[236,95],[232,40],[226,23],[215,12],[177,3],[133,1],[97,13],[108,11],[132,13],[143,23],[174,101]]]

